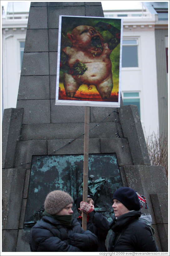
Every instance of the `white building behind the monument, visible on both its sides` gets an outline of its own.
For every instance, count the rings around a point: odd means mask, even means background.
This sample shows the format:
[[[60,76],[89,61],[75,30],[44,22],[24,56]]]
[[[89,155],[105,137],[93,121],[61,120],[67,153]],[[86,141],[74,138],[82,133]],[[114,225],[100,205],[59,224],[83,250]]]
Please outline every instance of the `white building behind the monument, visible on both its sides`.
[[[22,11],[18,11],[16,7],[15,11],[15,5],[12,9],[12,3],[8,3],[8,12],[2,18],[2,111],[4,108],[16,108],[30,5],[27,3],[27,7],[20,7]],[[141,3],[141,8],[136,10],[104,11],[104,16],[123,18],[121,93],[124,105],[138,106],[146,136],[153,132],[157,133],[159,130],[155,50],[157,15],[151,13]]]

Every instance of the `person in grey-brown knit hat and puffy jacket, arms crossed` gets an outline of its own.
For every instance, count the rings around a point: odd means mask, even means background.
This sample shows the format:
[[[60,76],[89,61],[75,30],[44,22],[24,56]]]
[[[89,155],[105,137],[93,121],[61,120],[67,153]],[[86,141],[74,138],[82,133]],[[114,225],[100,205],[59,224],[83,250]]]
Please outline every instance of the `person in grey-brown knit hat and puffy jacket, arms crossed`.
[[[50,192],[45,199],[42,219],[30,231],[32,252],[91,252],[98,239],[72,218],[73,198],[65,191]]]

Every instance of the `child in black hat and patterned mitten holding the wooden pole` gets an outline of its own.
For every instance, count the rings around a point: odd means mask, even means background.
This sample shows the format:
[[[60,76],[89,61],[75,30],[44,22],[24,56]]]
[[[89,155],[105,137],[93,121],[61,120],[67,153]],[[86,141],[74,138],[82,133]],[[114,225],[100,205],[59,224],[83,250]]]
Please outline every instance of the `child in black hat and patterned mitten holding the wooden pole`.
[[[107,252],[105,246],[105,239],[109,231],[109,222],[101,214],[95,211],[95,205],[93,198],[88,195],[87,202],[83,202],[83,195],[80,195],[75,199],[75,206],[80,216],[77,218],[78,222],[82,227],[82,212],[87,213],[87,230],[93,232],[99,241],[97,252]]]

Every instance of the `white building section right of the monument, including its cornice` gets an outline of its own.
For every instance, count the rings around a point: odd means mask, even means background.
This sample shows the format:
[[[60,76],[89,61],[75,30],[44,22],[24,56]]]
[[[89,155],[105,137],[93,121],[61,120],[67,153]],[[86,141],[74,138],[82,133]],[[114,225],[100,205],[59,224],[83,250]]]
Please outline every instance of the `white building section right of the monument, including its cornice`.
[[[121,93],[126,104],[138,106],[143,131],[157,133],[158,93],[155,54],[155,15],[138,10],[105,11],[105,17],[123,18]]]

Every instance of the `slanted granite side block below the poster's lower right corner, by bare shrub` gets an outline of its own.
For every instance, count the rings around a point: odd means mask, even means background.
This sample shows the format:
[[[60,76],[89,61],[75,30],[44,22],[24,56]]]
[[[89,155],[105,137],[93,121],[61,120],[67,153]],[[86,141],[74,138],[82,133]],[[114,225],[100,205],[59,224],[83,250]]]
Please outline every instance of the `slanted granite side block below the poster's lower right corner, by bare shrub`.
[[[122,106],[119,109],[119,118],[124,138],[128,138],[129,141],[134,165],[150,165],[151,163],[138,113],[138,107],[135,105]]]

